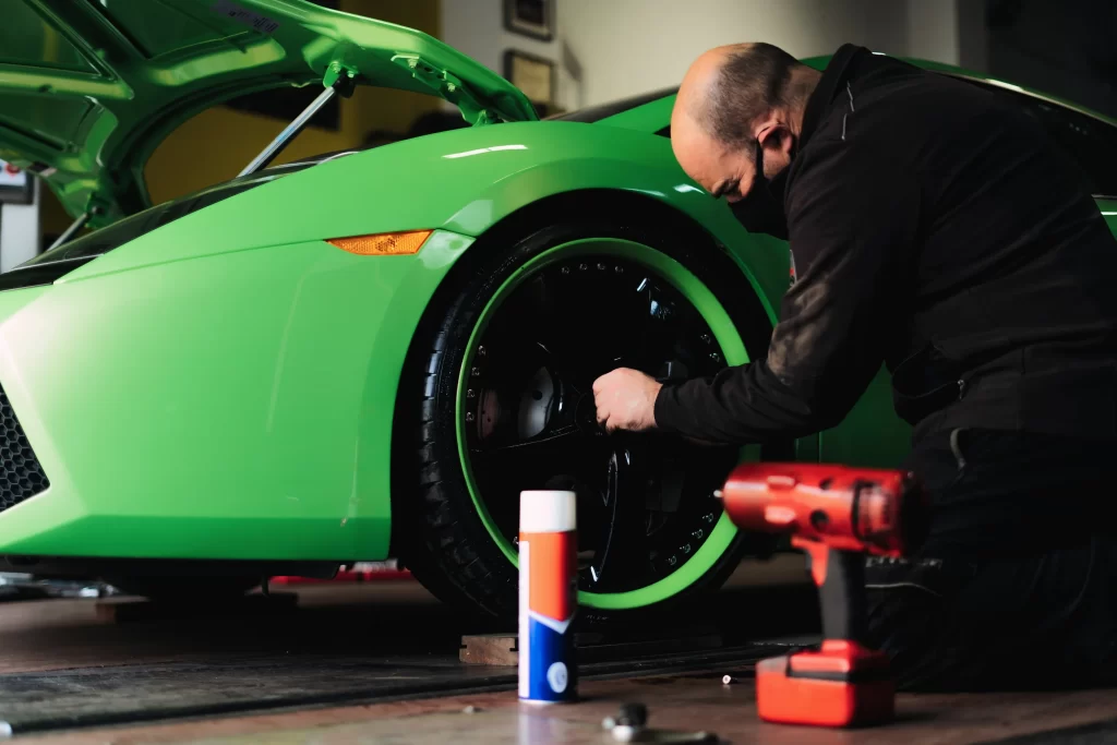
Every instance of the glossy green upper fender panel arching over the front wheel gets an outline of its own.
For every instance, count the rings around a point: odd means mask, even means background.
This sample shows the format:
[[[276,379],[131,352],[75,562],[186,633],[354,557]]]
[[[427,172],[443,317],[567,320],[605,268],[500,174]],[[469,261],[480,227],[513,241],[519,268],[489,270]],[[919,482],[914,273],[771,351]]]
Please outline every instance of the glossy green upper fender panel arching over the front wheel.
[[[61,281],[371,232],[441,228],[476,237],[544,197],[582,189],[633,191],[681,211],[735,247],[765,298],[786,287],[786,243],[748,235],[679,169],[666,137],[572,122],[454,130],[332,160],[183,217]]]

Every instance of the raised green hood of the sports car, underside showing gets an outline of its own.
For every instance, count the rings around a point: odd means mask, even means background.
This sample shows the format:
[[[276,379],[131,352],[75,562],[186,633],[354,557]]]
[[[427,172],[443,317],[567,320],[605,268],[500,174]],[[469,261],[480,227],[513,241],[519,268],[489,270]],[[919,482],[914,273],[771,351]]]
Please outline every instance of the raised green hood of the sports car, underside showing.
[[[0,160],[94,227],[150,206],[144,164],[179,124],[248,93],[341,82],[438,95],[472,124],[537,118],[441,41],[308,0],[0,1]]]

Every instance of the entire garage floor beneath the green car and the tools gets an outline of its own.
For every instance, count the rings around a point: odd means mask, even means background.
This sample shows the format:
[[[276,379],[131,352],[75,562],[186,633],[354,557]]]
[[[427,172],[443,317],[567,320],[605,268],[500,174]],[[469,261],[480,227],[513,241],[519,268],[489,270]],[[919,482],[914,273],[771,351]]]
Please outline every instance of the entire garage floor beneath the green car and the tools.
[[[638,700],[652,727],[723,742],[1001,742],[1082,725],[1075,742],[1117,742],[1111,690],[901,696],[896,724],[858,732],[760,724],[753,662],[818,631],[793,556],[746,565],[688,609],[680,622],[716,629],[718,649],[588,663],[586,700],[543,709],[517,703],[514,668],[460,663],[461,634],[479,629],[457,625],[413,582],[256,600],[194,618],[114,601],[131,611],[115,621],[94,600],[0,603],[0,720],[28,743],[607,743],[602,719]],[[726,674],[738,681],[723,685]]]

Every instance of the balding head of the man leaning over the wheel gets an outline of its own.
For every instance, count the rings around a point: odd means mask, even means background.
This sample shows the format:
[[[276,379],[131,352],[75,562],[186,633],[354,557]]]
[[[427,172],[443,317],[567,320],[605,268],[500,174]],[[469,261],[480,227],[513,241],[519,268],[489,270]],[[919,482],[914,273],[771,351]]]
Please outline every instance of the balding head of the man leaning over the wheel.
[[[704,52],[682,78],[671,112],[671,146],[679,164],[714,195],[743,197],[741,190],[752,182],[755,142],[767,152],[786,139],[790,153],[818,77],[770,44]],[[785,165],[776,152],[771,161],[765,155],[765,164]]]

